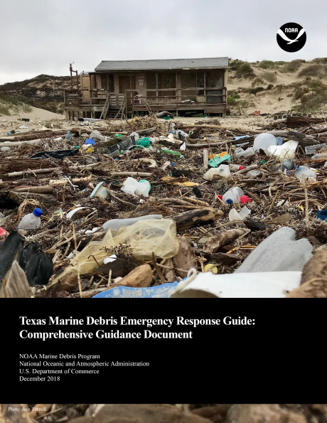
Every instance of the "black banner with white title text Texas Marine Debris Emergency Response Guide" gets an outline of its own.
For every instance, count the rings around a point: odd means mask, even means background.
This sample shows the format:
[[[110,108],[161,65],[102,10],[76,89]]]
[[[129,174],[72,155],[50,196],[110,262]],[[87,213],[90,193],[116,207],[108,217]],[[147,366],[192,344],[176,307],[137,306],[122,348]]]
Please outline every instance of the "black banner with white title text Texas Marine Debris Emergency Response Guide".
[[[316,302],[276,299],[11,304],[3,402],[299,402],[324,320]]]

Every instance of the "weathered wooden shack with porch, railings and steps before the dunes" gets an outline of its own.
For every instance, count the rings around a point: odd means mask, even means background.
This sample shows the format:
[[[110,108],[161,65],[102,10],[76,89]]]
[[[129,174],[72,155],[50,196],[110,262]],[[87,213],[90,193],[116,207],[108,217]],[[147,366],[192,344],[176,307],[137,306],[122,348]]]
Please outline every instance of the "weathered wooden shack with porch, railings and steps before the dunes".
[[[225,116],[228,58],[102,60],[65,91],[68,119],[161,112]]]

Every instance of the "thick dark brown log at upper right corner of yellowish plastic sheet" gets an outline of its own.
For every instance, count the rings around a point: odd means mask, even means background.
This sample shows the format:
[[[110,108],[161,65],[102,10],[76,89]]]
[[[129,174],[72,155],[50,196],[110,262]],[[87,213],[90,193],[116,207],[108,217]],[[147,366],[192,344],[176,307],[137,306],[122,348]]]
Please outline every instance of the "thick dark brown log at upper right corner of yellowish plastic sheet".
[[[191,210],[189,212],[181,213],[173,216],[171,219],[175,220],[177,232],[190,229],[190,227],[198,227],[203,225],[210,225],[221,218],[223,212],[213,208],[203,208],[202,210]]]

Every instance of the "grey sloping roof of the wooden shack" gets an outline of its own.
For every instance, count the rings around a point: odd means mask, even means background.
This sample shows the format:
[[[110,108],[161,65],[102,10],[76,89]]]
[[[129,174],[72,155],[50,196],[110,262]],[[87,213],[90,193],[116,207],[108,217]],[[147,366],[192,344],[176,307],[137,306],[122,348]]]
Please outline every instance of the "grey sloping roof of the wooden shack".
[[[161,60],[102,60],[95,72],[122,70],[187,70],[228,68],[228,58],[161,59]]]

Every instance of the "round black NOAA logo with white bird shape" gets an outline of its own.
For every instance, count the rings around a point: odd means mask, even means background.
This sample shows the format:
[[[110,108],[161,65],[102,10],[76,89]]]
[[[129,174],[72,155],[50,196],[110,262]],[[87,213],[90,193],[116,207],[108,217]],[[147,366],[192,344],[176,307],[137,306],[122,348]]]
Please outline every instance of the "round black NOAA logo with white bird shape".
[[[306,31],[299,23],[289,22],[282,25],[277,32],[277,43],[282,50],[295,53],[306,43]]]

